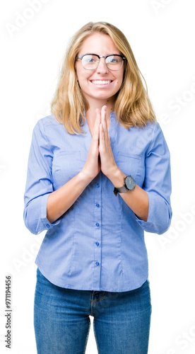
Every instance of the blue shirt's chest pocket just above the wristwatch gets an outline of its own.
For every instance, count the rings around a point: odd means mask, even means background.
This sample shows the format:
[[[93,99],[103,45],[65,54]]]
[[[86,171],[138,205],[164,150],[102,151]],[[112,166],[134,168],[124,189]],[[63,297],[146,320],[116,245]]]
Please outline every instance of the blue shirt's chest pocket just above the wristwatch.
[[[144,179],[144,161],[141,156],[126,152],[117,152],[115,156],[117,166],[126,176],[132,176],[138,185]]]

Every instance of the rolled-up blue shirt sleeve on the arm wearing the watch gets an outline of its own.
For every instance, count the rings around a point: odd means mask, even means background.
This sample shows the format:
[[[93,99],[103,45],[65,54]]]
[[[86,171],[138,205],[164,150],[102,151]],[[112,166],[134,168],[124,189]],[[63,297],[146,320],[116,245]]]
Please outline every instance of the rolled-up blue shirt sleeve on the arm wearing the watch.
[[[143,189],[148,193],[148,219],[144,222],[136,217],[136,221],[146,232],[163,234],[170,227],[172,218],[171,173],[170,152],[158,123],[146,151]]]

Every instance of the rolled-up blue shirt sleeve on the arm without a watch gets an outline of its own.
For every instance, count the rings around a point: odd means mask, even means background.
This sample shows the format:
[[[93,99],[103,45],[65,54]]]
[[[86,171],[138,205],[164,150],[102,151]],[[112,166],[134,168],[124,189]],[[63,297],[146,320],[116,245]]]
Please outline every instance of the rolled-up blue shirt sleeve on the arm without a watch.
[[[53,190],[52,147],[42,120],[39,120],[32,133],[24,195],[24,222],[32,234],[39,234],[60,222],[58,219],[51,224],[47,219],[47,198]]]

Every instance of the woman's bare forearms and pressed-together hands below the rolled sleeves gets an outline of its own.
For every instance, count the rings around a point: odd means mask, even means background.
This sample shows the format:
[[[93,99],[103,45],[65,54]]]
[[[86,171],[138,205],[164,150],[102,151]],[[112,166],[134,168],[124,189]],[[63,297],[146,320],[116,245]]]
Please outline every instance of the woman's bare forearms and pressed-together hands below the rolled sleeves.
[[[106,108],[104,105],[101,110],[96,110],[93,137],[85,166],[70,181],[49,195],[47,219],[51,223],[61,217],[73,205],[73,202],[81,195],[88,183],[93,181],[93,178],[100,171],[110,179],[113,187],[122,187],[124,183],[126,175],[119,169],[112,154],[110,135],[107,129]],[[149,204],[145,190],[136,185],[134,190],[122,193],[121,197],[139,218],[147,221]]]

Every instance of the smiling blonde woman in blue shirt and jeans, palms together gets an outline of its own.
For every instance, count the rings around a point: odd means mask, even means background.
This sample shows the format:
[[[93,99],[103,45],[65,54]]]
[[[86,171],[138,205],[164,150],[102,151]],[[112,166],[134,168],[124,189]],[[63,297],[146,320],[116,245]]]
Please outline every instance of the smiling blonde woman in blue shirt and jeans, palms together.
[[[37,353],[148,353],[144,230],[170,226],[170,154],[124,34],[88,23],[66,53],[52,115],[32,135],[25,225],[37,255]]]

